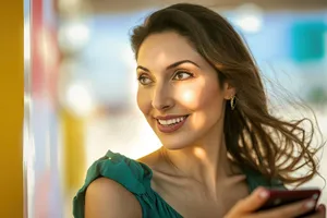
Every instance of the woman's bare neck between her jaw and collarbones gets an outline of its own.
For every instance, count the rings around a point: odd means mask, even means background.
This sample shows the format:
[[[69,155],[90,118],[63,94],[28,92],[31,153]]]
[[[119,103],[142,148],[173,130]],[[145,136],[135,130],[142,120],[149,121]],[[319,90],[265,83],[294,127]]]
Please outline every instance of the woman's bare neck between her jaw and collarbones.
[[[177,167],[177,172],[201,182],[210,190],[217,190],[218,183],[232,174],[232,165],[227,156],[222,128],[213,133],[215,134],[209,134],[195,145],[178,150],[162,147],[162,150]]]

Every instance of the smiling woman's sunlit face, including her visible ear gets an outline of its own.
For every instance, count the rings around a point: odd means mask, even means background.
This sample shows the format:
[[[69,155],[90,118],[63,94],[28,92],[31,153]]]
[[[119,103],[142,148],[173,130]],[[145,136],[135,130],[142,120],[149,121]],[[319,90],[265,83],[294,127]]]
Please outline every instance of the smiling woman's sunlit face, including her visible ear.
[[[154,34],[137,58],[137,105],[162,145],[201,145],[222,131],[226,99],[218,75],[187,40],[174,32]]]

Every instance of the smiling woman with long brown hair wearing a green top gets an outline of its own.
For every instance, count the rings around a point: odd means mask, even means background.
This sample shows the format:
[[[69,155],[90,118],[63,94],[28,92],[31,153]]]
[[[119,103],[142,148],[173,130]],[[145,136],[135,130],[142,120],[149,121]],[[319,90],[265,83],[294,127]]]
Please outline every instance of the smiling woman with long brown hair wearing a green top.
[[[290,218],[314,207],[306,199],[257,211],[267,187],[304,183],[317,165],[301,121],[269,113],[255,62],[226,20],[174,4],[131,41],[137,105],[162,147],[138,160],[109,150],[74,198],[76,218]],[[310,173],[292,175],[303,160]],[[312,217],[325,217],[325,206]]]

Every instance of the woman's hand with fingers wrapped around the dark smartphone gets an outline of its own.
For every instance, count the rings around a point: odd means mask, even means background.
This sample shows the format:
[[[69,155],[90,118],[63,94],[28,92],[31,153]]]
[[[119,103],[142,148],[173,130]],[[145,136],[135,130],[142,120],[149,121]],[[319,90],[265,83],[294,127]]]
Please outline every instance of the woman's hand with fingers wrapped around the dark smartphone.
[[[306,214],[315,206],[314,199],[306,199],[264,211],[256,211],[268,197],[268,192],[263,187],[258,187],[250,196],[235,204],[225,218],[293,218]],[[325,205],[319,205],[316,213],[306,218],[326,218]]]

